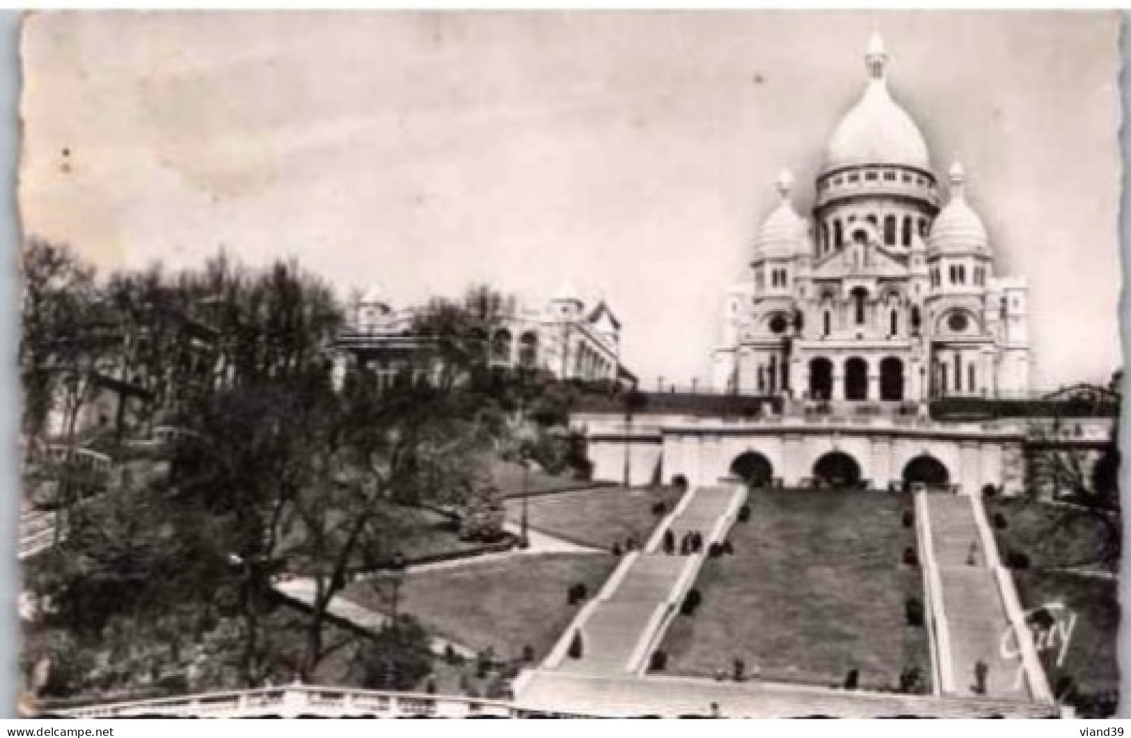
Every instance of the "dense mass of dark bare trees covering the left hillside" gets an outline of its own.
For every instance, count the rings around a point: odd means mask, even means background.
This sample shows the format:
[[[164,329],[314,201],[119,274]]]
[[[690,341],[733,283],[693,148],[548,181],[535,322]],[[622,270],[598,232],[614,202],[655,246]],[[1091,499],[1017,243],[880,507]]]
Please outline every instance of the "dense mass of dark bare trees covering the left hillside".
[[[474,336],[503,300],[485,288],[418,312],[425,347],[390,385],[364,363],[336,374],[344,308],[293,261],[252,269],[222,254],[98,278],[33,241],[23,267],[28,447],[93,443],[78,419],[107,386],[140,398],[101,446],[112,484],[81,505],[64,496],[67,538],[25,567],[50,603],[50,637],[25,657],[48,659],[58,694],[185,675],[198,684],[181,688],[309,680],[342,649],[423,649],[409,620],[359,644],[334,627],[331,600],[354,569],[395,558],[392,508],[458,508],[492,455],[545,453],[543,430],[568,412],[547,378],[489,366]],[[155,424],[178,434],[159,460],[138,457],[129,436]],[[300,619],[278,611],[287,572],[313,584]],[[388,681],[364,671],[388,659],[356,661],[359,683]]]

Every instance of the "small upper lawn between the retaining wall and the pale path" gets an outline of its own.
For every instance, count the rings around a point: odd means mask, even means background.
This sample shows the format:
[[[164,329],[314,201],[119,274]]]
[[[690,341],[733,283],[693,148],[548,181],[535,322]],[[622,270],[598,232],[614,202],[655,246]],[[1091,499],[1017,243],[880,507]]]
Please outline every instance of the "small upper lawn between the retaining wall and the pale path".
[[[656,503],[663,503],[664,509],[671,510],[682,495],[673,487],[599,487],[538,495],[525,501],[530,527],[567,541],[608,550],[614,542],[623,546],[629,537],[634,537],[642,546],[662,520],[653,513]],[[508,520],[513,523],[521,521],[523,503],[523,499],[507,500]]]

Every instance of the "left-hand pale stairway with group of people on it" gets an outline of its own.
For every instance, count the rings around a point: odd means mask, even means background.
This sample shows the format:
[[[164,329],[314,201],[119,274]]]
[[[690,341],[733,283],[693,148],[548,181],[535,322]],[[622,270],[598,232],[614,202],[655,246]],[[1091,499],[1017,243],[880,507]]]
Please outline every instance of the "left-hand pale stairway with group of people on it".
[[[668,529],[679,540],[687,532],[703,537],[703,550],[697,556],[667,555],[649,546],[613,576],[620,576],[603,590],[588,611],[562,636],[559,649],[546,660],[546,668],[562,673],[623,676],[634,671],[647,658],[650,644],[658,640],[668,616],[682,601],[713,540],[722,538],[733,522],[745,496],[737,487],[703,487],[688,492],[676,508]],[[732,517],[727,517],[731,515]],[[658,540],[655,537],[653,541]],[[580,630],[582,653],[578,659],[562,657],[561,646]]]

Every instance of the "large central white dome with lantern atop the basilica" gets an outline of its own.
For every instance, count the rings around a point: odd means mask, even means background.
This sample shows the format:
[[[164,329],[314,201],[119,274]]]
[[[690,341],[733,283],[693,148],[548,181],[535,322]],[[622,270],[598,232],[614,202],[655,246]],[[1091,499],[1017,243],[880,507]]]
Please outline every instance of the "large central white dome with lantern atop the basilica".
[[[879,36],[869,43],[870,80],[860,102],[841,119],[824,153],[824,170],[864,164],[899,164],[931,170],[918,126],[888,92],[887,53]]]

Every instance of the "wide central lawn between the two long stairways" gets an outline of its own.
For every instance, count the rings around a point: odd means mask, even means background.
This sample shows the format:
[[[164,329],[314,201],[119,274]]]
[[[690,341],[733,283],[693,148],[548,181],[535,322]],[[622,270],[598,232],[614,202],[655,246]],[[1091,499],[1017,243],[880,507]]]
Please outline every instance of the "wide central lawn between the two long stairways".
[[[893,689],[907,667],[931,678],[926,630],[908,627],[905,599],[923,598],[918,568],[903,565],[915,529],[912,499],[879,491],[757,490],[736,523],[734,554],[708,559],[702,604],[672,623],[661,649],[667,671]]]

